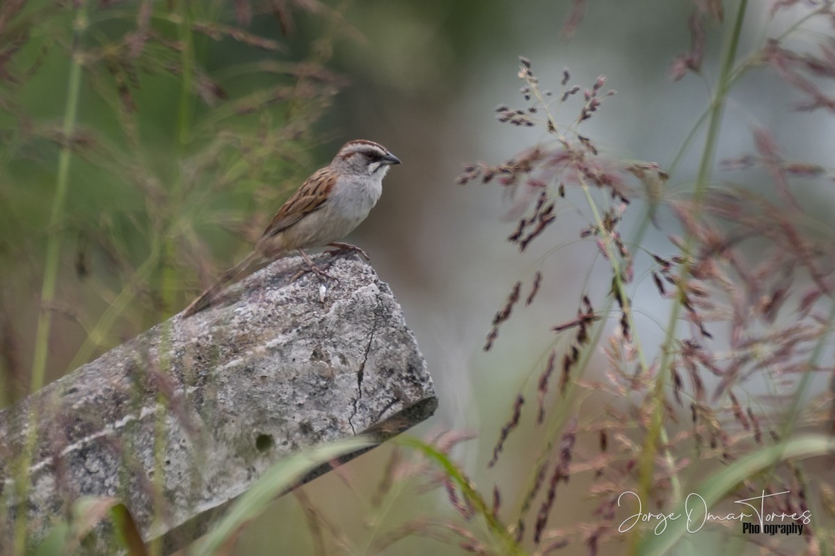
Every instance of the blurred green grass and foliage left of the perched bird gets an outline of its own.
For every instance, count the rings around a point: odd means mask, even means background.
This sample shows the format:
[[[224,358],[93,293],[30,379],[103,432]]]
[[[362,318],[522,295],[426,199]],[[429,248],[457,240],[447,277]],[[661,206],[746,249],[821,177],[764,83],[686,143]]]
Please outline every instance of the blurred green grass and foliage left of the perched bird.
[[[291,49],[300,19],[320,35]],[[22,300],[38,298],[47,245],[51,349],[83,331],[69,368],[175,312],[214,277],[209,246],[230,258],[309,171],[313,125],[346,83],[324,64],[350,31],[316,0],[0,6],[7,397],[28,389]]]

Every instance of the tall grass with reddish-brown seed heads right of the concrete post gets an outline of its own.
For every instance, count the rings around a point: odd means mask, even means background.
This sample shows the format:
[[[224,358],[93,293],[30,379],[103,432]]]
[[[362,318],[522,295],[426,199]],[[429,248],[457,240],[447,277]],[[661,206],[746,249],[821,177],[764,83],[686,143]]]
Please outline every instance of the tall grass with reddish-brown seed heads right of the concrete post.
[[[614,94],[603,88],[605,77],[588,87],[572,85],[566,69],[552,92],[540,85],[531,62],[520,58],[522,108],[501,105],[496,118],[532,128],[540,137],[544,130],[545,138],[504,163],[468,165],[458,178],[460,184],[496,184],[507,193],[507,217],[518,222],[508,240],[519,251],[544,241],[540,236],[547,237],[558,208],[570,206],[585,220],[577,237],[598,253],[590,279],[579,286],[576,318],[553,327],[547,361],[516,396],[488,463],[501,461],[521,423],[542,427],[533,433],[538,454],[528,462],[524,503],[509,512],[508,521],[520,546],[535,553],[575,543],[590,554],[610,553],[623,541],[634,554],[681,549],[687,543],[680,542],[683,537],[699,534],[705,516],[689,493],[700,495],[714,516],[738,516],[742,507],[734,501],[755,500],[766,523],[765,516],[776,515],[772,523],[804,525],[802,544],[752,535],[741,538],[741,548],[750,543],[769,553],[817,554],[829,553],[835,541],[831,477],[803,461],[835,453],[830,378],[835,229],[815,221],[814,207],[804,207],[812,204],[804,203],[807,194],[798,193],[826,191],[835,171],[785,158],[780,133],[757,124],[751,126],[756,152],[732,153],[738,158],[722,160],[721,168],[759,168],[767,178],[751,184],[714,178],[724,109],[733,85],[748,73],[775,71],[801,93],[794,108],[832,118],[835,103],[827,92],[835,78],[832,38],[812,35],[812,44],[801,48],[793,41],[804,36],[810,20],[828,23],[832,31],[835,11],[832,3],[807,3],[792,13],[786,31],[738,54],[747,3],[737,3],[729,21],[718,0],[695,4],[691,50],[673,61],[672,78],[701,73],[707,28],[726,28],[711,103],[695,124],[682,122],[704,134],[695,175],[677,167],[680,158],[666,170],[599,150],[581,129]],[[787,8],[798,8],[797,3],[774,3],[769,16]],[[579,98],[577,116],[563,123],[557,114],[565,118],[573,98]],[[694,132],[682,153],[695,150]],[[668,191],[670,179],[688,184],[688,191]],[[631,216],[636,211],[641,214]],[[666,218],[657,218],[659,213]],[[630,216],[639,225],[627,238],[622,229]],[[650,226],[665,235],[668,253],[645,247]],[[537,295],[549,280],[542,265],[542,259],[534,265],[529,284],[520,280],[511,288],[493,318],[485,350],[501,341],[500,328],[524,306],[549,303]],[[645,290],[669,302],[666,323],[638,326],[635,316],[642,308],[632,299],[648,298]],[[646,338],[653,337],[656,324],[660,343],[651,345]],[[602,377],[591,372],[595,352],[606,356]],[[827,381],[829,389],[821,389]],[[536,417],[526,420],[531,409],[525,401],[532,395]],[[566,488],[559,485],[569,478],[589,481],[595,509],[550,526],[558,493]],[[500,486],[496,492],[498,499]],[[623,493],[630,493],[628,500]],[[770,497],[761,507],[757,497],[763,493]],[[699,508],[691,514],[694,504]],[[529,510],[537,505],[534,518]],[[635,513],[631,522],[617,517],[624,505]],[[668,514],[679,516],[669,527],[662,523]],[[743,522],[762,523],[753,513],[722,520],[708,517],[727,540],[739,536]],[[695,536],[690,542],[698,543]]]

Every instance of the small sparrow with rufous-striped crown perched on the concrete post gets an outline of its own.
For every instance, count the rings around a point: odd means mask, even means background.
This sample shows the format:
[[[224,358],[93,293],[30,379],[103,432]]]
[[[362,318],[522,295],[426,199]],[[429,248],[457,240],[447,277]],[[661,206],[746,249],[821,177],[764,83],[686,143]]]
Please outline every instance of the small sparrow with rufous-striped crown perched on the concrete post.
[[[362,249],[337,240],[366,219],[382,194],[382,178],[392,164],[399,163],[380,143],[364,139],[345,143],[330,164],[316,170],[278,209],[252,253],[185,308],[183,318],[210,307],[226,286],[293,251],[320,274],[324,273],[312,263],[306,248],[330,245],[337,252],[356,251],[367,258]]]

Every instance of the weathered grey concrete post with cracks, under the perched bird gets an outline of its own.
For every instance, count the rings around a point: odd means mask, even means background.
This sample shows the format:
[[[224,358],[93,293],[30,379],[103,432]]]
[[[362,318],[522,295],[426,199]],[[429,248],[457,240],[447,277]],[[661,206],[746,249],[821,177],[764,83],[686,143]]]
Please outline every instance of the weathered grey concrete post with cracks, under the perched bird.
[[[217,306],[175,316],[0,413],[4,501],[33,405],[33,529],[79,495],[109,495],[144,538],[205,522],[294,450],[359,433],[382,441],[428,418],[432,381],[387,284],[355,258],[314,260],[332,262],[338,282],[306,273],[291,283],[301,258],[282,259]],[[159,484],[164,500],[153,502]],[[176,536],[170,548],[193,538]]]

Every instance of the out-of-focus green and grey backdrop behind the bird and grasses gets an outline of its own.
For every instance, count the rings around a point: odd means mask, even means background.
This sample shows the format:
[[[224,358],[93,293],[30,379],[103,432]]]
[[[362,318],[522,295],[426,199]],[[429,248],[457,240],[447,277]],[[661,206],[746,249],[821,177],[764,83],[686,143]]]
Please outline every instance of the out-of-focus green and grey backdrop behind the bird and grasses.
[[[239,23],[236,5],[249,7],[251,23]],[[147,24],[154,32],[137,46],[125,37],[144,24],[141,7],[153,8]],[[767,8],[749,8],[741,49],[779,31],[782,20],[772,21]],[[545,138],[539,128],[511,128],[493,118],[498,104],[522,104],[519,55],[533,61],[544,88],[557,88],[564,67],[583,86],[605,74],[606,87],[618,93],[584,133],[614,158],[668,167],[709,103],[722,33],[718,25],[708,27],[705,77],[673,83],[671,62],[690,44],[693,6],[686,2],[589,2],[570,38],[562,28],[571,3],[545,0],[89,3],[83,22],[89,27],[80,35],[78,128],[66,138],[70,11],[49,2],[29,3],[19,13],[13,3],[0,9],[10,16],[0,20],[0,53],[10,60],[0,82],[6,403],[29,388],[51,233],[60,234],[61,248],[49,307],[48,379],[185,307],[248,251],[313,169],[345,141],[372,139],[402,166],[389,173],[382,200],[347,241],[365,249],[391,284],[428,360],[440,408],[414,433],[477,432],[453,455],[484,493],[501,484],[506,507],[519,503],[514,493],[526,475],[517,468],[529,469],[536,433],[531,423],[523,426],[497,468],[488,470],[498,430],[515,393],[538,376],[553,343],[549,328],[574,316],[584,291],[605,293],[608,277],[597,280],[589,271],[595,253],[573,243],[581,209],[561,209],[523,256],[505,241],[513,223],[501,222],[506,202],[498,188],[462,188],[455,178],[464,163],[497,163]],[[216,27],[189,37],[182,18]],[[252,37],[235,36],[232,28]],[[254,44],[256,36],[271,43]],[[193,67],[183,66],[187,43]],[[185,92],[184,71],[190,74]],[[832,122],[790,112],[796,94],[774,73],[752,73],[732,98],[720,158],[751,152],[751,129],[762,125],[779,130],[787,158],[831,160]],[[570,108],[565,119],[574,114]],[[50,229],[59,146],[68,141],[74,154],[65,213],[58,229]],[[697,157],[698,149],[682,158],[669,184],[672,196],[689,187]],[[821,216],[831,213],[831,193],[816,191],[807,193],[817,195],[808,205]],[[664,241],[659,234],[646,244]],[[518,313],[493,351],[483,353],[510,286],[536,269],[545,276],[540,303]],[[663,329],[655,323],[665,303],[634,303],[645,319],[643,341],[657,343]],[[111,325],[103,326],[107,314]],[[333,525],[326,538],[337,540],[328,553],[374,553],[373,543],[407,519],[454,515],[443,489],[420,494],[411,483],[389,505],[372,507],[368,493],[377,488],[390,450],[349,464],[343,473],[350,487],[330,473],[304,488]],[[596,504],[588,487],[582,479],[565,485],[550,523],[590,518]],[[710,535],[700,542],[709,543]],[[252,524],[235,553],[313,550],[300,504],[286,496]],[[430,550],[461,553],[454,543],[416,537],[385,553]],[[585,552],[578,542],[562,553]]]

